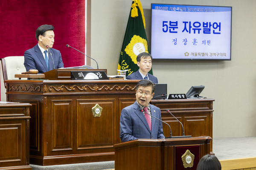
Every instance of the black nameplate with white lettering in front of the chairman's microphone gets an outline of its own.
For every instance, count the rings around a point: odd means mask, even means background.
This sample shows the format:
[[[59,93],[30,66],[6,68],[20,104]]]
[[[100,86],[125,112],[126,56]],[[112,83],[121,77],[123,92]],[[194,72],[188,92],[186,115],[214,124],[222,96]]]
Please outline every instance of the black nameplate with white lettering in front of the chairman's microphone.
[[[71,71],[71,79],[108,79],[108,76],[105,71]]]

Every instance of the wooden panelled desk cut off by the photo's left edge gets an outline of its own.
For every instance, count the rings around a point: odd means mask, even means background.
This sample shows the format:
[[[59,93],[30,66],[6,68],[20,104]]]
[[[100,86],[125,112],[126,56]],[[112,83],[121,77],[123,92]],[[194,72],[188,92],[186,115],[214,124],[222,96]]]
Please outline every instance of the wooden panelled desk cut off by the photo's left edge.
[[[29,166],[29,103],[0,102],[0,169]]]

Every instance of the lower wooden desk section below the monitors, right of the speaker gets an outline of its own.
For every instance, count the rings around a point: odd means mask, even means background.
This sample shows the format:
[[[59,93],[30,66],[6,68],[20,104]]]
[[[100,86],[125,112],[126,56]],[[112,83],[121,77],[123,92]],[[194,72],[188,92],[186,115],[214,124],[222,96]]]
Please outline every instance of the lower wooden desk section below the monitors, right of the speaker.
[[[212,137],[212,112],[214,99],[159,99],[151,104],[161,109],[162,120],[172,129],[172,136],[182,136],[182,126],[166,112],[170,112],[183,124],[185,135]],[[163,133],[170,134],[170,129],[163,124]],[[211,149],[212,152],[212,141]]]

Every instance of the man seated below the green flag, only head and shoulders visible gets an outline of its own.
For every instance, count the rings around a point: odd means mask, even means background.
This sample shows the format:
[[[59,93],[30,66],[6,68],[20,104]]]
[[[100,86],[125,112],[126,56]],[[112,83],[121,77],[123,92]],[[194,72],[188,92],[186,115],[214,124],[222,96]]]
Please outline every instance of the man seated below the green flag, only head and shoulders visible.
[[[157,77],[149,74],[148,71],[152,68],[152,56],[148,53],[140,53],[137,56],[137,65],[139,70],[128,75],[126,79],[149,79],[155,84],[158,83]]]

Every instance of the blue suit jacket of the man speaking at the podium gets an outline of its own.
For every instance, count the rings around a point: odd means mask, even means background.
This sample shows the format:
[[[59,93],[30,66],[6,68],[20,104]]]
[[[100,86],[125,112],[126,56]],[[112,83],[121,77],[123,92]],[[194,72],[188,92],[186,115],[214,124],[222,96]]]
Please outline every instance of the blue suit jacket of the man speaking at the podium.
[[[150,105],[151,115],[161,120],[160,108]],[[121,111],[120,117],[120,139],[122,142],[135,139],[164,139],[163,124],[159,120],[151,117],[151,131],[148,122],[140,111],[137,102]]]

